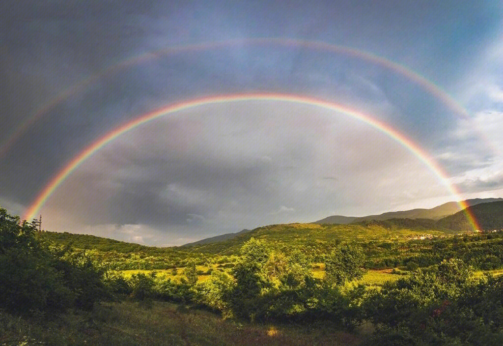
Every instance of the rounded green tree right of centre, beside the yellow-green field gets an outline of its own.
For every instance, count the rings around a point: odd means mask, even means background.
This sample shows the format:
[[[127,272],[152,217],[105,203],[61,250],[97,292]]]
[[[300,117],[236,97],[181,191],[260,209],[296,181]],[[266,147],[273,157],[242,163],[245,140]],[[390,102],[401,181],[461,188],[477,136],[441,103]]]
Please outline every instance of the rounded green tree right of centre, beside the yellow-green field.
[[[359,246],[345,244],[338,246],[328,255],[325,262],[325,280],[330,284],[343,285],[360,279],[364,271],[364,254]]]

